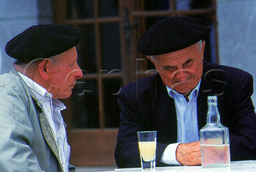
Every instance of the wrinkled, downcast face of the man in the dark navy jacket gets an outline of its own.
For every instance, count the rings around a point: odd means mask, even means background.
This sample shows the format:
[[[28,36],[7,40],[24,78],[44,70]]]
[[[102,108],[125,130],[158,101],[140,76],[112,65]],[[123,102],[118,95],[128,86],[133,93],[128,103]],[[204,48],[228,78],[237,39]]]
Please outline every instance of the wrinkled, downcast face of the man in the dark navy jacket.
[[[148,57],[155,65],[165,85],[184,94],[196,87],[203,73],[205,42],[197,43],[172,53]]]

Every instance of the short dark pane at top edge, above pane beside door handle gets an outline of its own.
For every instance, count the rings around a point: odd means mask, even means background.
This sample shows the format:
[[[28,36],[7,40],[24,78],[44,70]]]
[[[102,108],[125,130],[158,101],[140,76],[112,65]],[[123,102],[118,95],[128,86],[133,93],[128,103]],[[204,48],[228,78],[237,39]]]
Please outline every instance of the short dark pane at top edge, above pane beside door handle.
[[[100,0],[99,16],[101,17],[118,16],[118,0]]]

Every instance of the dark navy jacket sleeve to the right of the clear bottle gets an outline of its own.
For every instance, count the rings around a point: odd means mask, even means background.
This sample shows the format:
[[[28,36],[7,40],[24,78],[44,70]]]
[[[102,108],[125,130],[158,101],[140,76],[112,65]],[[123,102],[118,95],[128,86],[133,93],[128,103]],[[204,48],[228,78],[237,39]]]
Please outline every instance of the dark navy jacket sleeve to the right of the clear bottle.
[[[251,100],[253,78],[250,74],[239,78],[230,102],[230,157],[231,160],[256,159],[256,116]],[[233,85],[231,86],[233,87]]]

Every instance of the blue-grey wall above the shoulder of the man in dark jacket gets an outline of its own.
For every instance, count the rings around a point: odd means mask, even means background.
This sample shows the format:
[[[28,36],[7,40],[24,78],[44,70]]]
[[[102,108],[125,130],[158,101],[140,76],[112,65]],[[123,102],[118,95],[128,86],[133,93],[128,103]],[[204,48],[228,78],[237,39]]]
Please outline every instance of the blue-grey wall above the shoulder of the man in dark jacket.
[[[220,64],[251,73],[255,92],[256,1],[218,0],[217,20]],[[256,107],[256,93],[252,99]]]

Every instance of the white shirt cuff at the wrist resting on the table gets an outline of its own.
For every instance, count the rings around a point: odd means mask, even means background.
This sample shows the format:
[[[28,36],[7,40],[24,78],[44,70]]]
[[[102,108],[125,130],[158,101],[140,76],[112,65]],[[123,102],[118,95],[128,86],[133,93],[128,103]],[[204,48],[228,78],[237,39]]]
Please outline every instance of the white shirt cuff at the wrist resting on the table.
[[[161,157],[161,162],[167,165],[180,166],[181,164],[176,160],[176,150],[180,143],[169,144]]]

